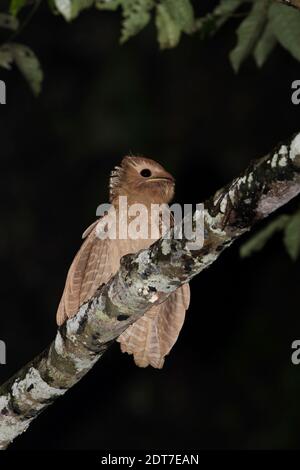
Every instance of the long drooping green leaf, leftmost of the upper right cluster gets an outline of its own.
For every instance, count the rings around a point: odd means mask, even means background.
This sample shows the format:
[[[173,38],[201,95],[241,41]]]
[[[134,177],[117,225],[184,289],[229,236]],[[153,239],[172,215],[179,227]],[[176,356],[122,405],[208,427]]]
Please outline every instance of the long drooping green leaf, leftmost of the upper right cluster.
[[[266,21],[270,0],[255,1],[247,18],[237,30],[238,41],[230,53],[230,61],[235,70],[239,71],[241,64],[252,53],[260,38]]]

